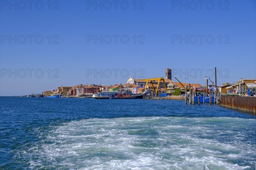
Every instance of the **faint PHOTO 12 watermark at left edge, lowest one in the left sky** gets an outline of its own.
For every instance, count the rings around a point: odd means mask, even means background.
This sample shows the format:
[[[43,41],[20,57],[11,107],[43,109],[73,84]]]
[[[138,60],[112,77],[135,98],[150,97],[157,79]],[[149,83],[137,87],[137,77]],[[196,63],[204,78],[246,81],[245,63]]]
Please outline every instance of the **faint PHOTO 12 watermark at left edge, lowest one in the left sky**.
[[[59,70],[57,68],[43,70],[41,68],[1,68],[1,78],[59,78]]]

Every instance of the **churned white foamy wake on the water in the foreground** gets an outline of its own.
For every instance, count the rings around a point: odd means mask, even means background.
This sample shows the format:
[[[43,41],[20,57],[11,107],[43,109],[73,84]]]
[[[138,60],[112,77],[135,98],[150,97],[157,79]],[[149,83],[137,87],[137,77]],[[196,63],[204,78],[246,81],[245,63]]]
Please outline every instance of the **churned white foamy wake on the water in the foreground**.
[[[231,130],[237,118],[139,117],[86,119],[50,127],[47,140],[27,150],[30,168],[132,170],[243,170],[253,164],[255,145],[238,145],[246,136]],[[221,120],[216,126],[208,122]],[[186,124],[183,123],[186,122]],[[252,120],[239,119],[244,127]],[[178,127],[178,128],[177,128]],[[192,128],[190,128],[192,127]],[[233,134],[233,142],[187,144],[173,139],[216,138]],[[93,140],[96,139],[96,142]],[[102,140],[104,142],[102,142]],[[35,159],[36,158],[36,159]],[[254,158],[254,159],[253,159]],[[233,163],[242,160],[242,164]],[[38,160],[38,161],[36,161]],[[44,160],[44,161],[39,161]]]

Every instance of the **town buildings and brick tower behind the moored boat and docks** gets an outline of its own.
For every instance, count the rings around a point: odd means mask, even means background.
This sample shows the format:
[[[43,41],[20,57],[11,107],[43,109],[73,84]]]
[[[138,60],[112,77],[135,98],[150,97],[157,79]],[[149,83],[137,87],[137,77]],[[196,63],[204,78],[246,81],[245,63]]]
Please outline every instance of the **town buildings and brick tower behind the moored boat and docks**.
[[[215,80],[217,81],[217,80]],[[239,79],[237,82],[226,82],[222,86],[215,85],[214,82],[209,80],[207,86],[208,88],[218,88],[222,94],[244,94],[248,95],[248,89],[250,89],[251,94],[256,92],[256,79]],[[180,96],[185,94],[186,87],[190,86],[193,89],[206,88],[199,83],[190,82],[180,82],[176,77],[173,79],[172,70],[167,68],[165,71],[164,82],[159,82],[159,88],[157,87],[157,81],[152,81],[152,83],[147,83],[146,79],[134,79],[129,77],[125,84],[115,84],[115,85],[75,85],[75,86],[60,86],[52,91],[44,91],[42,94],[32,94],[28,96],[56,96],[60,95],[62,97],[92,97],[93,94],[99,94],[104,91],[121,91],[130,92],[131,94],[143,94],[145,90],[154,91],[158,89],[160,93],[167,93],[170,96]],[[164,85],[165,84],[165,85]],[[166,87],[166,88],[165,88]]]

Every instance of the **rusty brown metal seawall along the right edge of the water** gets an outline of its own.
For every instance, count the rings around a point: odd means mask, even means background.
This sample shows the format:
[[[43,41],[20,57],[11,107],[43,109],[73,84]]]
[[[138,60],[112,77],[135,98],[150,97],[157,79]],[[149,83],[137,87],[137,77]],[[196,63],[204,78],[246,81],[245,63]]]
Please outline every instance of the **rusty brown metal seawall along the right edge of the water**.
[[[221,105],[256,113],[256,97],[222,96]]]

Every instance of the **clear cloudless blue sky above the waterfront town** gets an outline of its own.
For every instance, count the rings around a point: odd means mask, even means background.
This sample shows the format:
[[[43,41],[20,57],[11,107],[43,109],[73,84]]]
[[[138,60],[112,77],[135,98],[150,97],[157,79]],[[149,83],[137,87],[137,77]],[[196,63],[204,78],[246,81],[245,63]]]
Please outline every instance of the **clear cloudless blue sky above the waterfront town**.
[[[166,68],[201,85],[215,67],[218,85],[256,78],[255,0],[0,0],[0,34],[2,96],[124,84]]]

